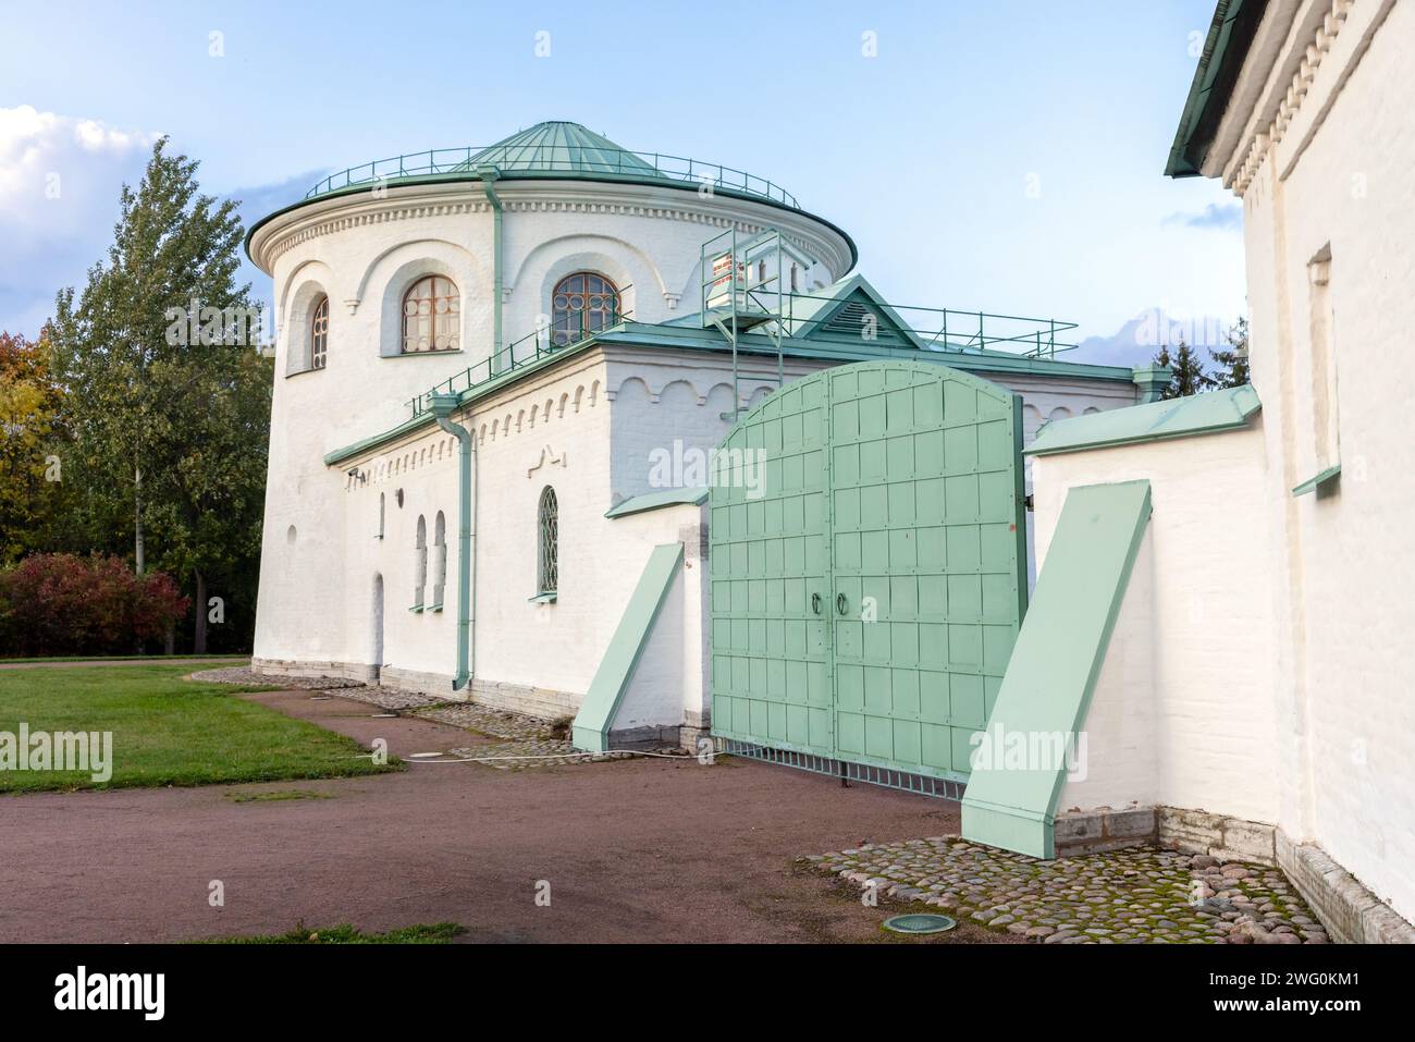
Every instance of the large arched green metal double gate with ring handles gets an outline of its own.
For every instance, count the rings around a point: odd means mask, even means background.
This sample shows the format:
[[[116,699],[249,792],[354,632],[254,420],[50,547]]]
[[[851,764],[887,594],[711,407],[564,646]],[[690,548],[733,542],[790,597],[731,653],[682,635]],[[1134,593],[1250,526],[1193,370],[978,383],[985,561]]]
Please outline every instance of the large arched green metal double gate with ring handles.
[[[710,496],[719,748],[958,796],[1026,609],[1020,447],[1019,396],[930,362],[746,413]]]

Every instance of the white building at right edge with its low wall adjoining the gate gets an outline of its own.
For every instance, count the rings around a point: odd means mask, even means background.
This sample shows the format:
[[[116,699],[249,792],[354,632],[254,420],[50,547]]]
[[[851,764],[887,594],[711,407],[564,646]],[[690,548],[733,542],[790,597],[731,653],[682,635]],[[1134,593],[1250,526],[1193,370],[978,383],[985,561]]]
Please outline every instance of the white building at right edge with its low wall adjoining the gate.
[[[1153,504],[1060,810],[1276,859],[1343,940],[1415,939],[1412,52],[1408,1],[1221,0],[1169,173],[1242,200],[1251,401],[1034,446],[1043,572],[1068,490]]]

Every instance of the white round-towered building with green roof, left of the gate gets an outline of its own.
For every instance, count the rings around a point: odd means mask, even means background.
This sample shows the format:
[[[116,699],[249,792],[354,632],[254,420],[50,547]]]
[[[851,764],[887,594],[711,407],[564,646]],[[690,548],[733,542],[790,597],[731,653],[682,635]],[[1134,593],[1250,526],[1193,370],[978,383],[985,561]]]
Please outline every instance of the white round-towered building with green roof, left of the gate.
[[[573,715],[651,551],[678,544],[683,566],[613,726],[623,740],[702,728],[705,508],[691,467],[665,479],[655,460],[712,449],[778,379],[773,341],[744,334],[734,389],[730,344],[699,317],[702,245],[724,231],[780,244],[736,260],[753,269],[739,277],[782,290],[785,379],[947,361],[1023,395],[1029,437],[1152,391],[1131,370],[1056,357],[1046,323],[1020,344],[1015,326],[954,313],[925,340],[927,323],[899,323],[849,277],[850,238],[774,184],[573,123],[348,171],[248,242],[279,324],[256,668]],[[437,388],[454,395],[446,425]]]

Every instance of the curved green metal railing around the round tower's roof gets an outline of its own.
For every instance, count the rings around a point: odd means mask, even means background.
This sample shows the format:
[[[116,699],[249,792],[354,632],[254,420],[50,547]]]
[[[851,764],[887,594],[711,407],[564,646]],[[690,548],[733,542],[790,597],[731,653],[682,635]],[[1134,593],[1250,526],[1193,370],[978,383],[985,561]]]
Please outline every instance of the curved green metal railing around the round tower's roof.
[[[334,191],[348,188],[379,188],[408,177],[454,177],[474,174],[477,166],[501,167],[502,177],[515,177],[529,164],[535,174],[556,171],[573,174],[616,174],[623,177],[645,177],[659,181],[710,185],[740,191],[747,195],[780,202],[799,210],[795,195],[774,181],[749,174],[746,170],[724,167],[722,163],[705,163],[682,156],[665,156],[658,151],[630,151],[628,149],[591,149],[574,144],[519,144],[463,149],[429,149],[391,159],[374,160],[337,174],[330,174],[304,194],[313,200]]]

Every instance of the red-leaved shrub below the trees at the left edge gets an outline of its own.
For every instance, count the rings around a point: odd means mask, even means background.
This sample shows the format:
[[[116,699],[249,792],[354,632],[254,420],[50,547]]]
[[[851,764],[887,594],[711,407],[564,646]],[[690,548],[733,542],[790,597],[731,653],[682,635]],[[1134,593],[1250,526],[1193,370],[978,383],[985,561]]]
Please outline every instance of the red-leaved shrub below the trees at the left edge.
[[[35,554],[0,572],[0,654],[132,654],[187,605],[163,572],[137,578],[119,558]]]

